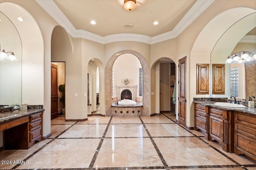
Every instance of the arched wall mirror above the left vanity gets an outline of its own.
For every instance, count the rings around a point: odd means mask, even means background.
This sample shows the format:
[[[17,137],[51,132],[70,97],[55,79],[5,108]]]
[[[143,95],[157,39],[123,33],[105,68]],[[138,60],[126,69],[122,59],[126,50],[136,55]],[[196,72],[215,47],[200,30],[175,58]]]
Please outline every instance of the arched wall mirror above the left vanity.
[[[22,43],[20,35],[8,17],[0,12],[0,49],[9,56],[13,52],[17,61],[0,61],[0,105],[22,102]]]

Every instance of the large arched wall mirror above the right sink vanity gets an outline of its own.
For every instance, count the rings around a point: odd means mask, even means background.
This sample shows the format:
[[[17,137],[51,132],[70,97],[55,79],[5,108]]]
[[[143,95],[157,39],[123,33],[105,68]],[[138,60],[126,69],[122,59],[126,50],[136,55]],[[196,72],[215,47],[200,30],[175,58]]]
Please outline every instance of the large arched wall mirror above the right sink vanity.
[[[211,53],[212,64],[225,64],[225,94],[211,97],[230,98],[248,101],[248,96],[256,95],[256,59],[241,63],[226,63],[228,56],[242,51],[251,55],[256,51],[256,14],[250,14],[237,21],[220,37]],[[254,53],[255,54],[255,53]],[[212,75],[211,75],[212,76]],[[211,87],[212,88],[212,84]],[[231,90],[232,89],[232,90]]]

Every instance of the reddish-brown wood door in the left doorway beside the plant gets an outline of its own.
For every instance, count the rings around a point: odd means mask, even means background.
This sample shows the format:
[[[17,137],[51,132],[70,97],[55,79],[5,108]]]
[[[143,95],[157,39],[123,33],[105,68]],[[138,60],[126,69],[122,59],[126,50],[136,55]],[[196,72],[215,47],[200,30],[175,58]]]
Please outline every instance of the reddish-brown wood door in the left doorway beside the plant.
[[[51,120],[58,117],[58,66],[51,64]]]

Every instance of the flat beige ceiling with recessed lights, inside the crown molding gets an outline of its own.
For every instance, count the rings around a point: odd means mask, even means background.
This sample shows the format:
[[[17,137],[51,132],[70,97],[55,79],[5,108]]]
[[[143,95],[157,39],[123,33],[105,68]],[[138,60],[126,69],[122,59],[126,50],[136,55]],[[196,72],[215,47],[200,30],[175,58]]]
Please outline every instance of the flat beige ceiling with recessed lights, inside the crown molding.
[[[134,33],[154,37],[172,31],[196,0],[137,0],[132,12],[124,9],[124,0],[54,0],[76,29],[105,37]],[[92,25],[90,21],[96,21]],[[154,25],[158,21],[158,25]],[[132,29],[124,25],[133,23]]]

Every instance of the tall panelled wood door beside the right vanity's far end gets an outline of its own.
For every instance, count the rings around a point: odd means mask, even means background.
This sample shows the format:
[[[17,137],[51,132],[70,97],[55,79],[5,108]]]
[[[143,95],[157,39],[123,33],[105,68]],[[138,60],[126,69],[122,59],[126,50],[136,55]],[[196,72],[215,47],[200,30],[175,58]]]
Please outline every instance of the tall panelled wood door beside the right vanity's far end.
[[[179,123],[186,127],[186,57],[179,60]]]

